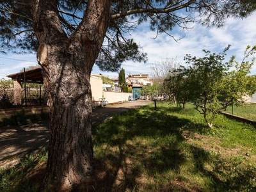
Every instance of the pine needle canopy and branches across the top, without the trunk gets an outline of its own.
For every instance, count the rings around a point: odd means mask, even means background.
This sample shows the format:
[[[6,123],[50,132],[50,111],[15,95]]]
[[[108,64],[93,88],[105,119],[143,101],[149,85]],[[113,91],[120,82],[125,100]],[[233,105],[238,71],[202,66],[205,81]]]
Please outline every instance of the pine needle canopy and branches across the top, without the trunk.
[[[35,18],[31,12],[35,9],[32,6],[35,2],[0,1],[1,52],[24,53],[38,49],[39,42],[33,29]],[[52,5],[60,20],[56,30],[71,37],[81,28],[89,4],[87,0],[54,2]],[[206,26],[220,27],[227,17],[246,17],[255,8],[255,2],[250,0],[112,1],[108,29],[96,64],[102,70],[116,71],[125,60],[147,61],[147,54],[127,35],[143,22],[147,22],[156,35],[166,33],[172,36],[170,31],[175,26],[188,29],[189,22],[198,21]]]

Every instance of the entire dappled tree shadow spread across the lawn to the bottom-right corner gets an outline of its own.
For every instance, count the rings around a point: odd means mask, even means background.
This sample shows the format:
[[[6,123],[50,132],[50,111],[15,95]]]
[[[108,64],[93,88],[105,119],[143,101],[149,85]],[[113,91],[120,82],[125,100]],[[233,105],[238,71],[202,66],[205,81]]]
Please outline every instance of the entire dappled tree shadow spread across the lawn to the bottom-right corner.
[[[116,116],[107,124],[95,127],[95,146],[104,150],[95,150],[95,172],[86,183],[86,190],[204,191],[207,188],[236,191],[248,189],[248,186],[255,189],[253,168],[229,175],[225,160],[212,157],[211,152],[187,142],[184,134],[204,132],[207,126],[168,115],[164,110],[129,111],[126,117]],[[184,154],[184,147],[190,148],[190,155]],[[191,174],[195,172],[207,182],[203,189],[196,184],[191,187],[193,183],[186,177],[179,180],[180,168],[190,161]],[[207,164],[213,166],[212,170],[207,169]],[[169,174],[170,170],[175,176],[163,181],[162,175]]]

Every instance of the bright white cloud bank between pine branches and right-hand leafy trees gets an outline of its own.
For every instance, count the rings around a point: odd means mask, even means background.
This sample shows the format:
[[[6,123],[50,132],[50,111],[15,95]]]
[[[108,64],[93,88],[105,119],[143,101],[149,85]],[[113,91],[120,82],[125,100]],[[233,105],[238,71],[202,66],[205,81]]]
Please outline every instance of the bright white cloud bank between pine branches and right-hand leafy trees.
[[[180,40],[179,43],[175,42],[172,37],[167,35],[157,36],[154,40],[156,33],[147,31],[146,28],[137,31],[132,35],[136,42],[139,42],[144,51],[148,53],[148,64],[161,62],[166,58],[175,58],[177,61],[183,62],[186,54],[192,56],[202,57],[204,52],[202,49],[211,52],[222,52],[228,44],[231,45],[230,50],[227,52],[227,60],[232,55],[236,55],[237,61],[241,61],[243,53],[247,45],[256,45],[256,12],[246,19],[230,18],[225,23],[223,28],[206,28],[200,24],[194,24],[193,29],[184,31],[186,36]],[[182,29],[176,28],[172,31],[172,35],[178,39],[183,34]],[[149,73],[149,65],[138,63],[134,68],[134,64],[127,62],[123,65],[125,72],[129,70],[136,73]],[[256,67],[252,69],[256,72]]]

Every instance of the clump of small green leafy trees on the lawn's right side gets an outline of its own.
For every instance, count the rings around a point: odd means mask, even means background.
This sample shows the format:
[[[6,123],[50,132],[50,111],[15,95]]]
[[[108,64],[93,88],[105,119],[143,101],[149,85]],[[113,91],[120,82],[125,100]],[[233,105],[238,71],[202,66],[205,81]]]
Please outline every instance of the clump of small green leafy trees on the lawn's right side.
[[[180,67],[176,70],[176,76],[168,79],[172,92],[183,108],[188,100],[193,102],[209,127],[212,127],[220,111],[226,110],[234,102],[243,102],[244,96],[252,96],[256,92],[256,77],[248,76],[255,58],[245,61],[255,54],[256,47],[246,47],[241,64],[234,61],[234,56],[223,63],[229,47],[220,54],[204,50],[204,58],[186,55],[189,67]],[[236,70],[230,71],[232,67],[236,67]]]

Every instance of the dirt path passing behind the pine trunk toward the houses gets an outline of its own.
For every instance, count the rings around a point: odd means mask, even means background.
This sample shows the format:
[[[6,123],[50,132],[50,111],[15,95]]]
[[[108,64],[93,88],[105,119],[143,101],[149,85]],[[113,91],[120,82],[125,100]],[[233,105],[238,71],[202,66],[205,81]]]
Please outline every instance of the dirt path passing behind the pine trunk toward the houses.
[[[107,118],[124,113],[132,108],[150,104],[150,100],[136,100],[111,105],[108,108],[93,109],[92,124],[104,122]],[[47,146],[49,141],[49,121],[31,125],[0,127],[0,168],[19,163],[20,158]]]

